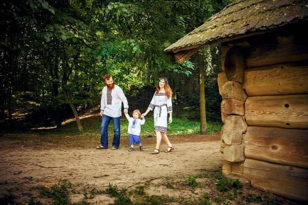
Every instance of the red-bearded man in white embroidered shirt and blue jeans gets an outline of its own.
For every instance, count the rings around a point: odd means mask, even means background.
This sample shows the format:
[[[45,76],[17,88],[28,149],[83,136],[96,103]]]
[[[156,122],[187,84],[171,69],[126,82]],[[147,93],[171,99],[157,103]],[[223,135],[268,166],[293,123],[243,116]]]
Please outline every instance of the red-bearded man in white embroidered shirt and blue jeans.
[[[108,149],[108,125],[110,120],[114,127],[114,135],[112,141],[111,150],[117,150],[120,146],[120,116],[122,102],[124,105],[124,113],[128,113],[128,102],[123,93],[123,90],[113,83],[112,75],[106,74],[104,76],[106,86],[102,91],[101,98],[101,113],[102,125],[101,125],[101,145],[97,149]]]

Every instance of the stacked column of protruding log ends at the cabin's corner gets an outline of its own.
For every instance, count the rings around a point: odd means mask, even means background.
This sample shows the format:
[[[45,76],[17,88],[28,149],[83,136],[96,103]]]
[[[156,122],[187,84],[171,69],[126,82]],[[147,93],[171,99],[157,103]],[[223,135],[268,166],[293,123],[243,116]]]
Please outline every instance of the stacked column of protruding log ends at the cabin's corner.
[[[219,92],[222,96],[221,115],[224,126],[221,130],[221,152],[230,162],[244,161],[242,134],[247,130],[244,119],[247,94],[242,88],[245,59],[241,49],[222,45],[222,64],[225,72],[218,75]],[[224,83],[224,84],[223,84]]]

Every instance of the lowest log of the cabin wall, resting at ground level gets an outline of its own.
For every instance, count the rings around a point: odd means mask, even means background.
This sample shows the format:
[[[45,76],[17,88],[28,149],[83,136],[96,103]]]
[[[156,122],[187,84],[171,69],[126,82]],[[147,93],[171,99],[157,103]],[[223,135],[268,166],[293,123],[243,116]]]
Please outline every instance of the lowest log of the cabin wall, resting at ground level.
[[[244,163],[224,161],[222,173],[249,179],[254,189],[308,201],[308,170],[306,169],[246,158]]]

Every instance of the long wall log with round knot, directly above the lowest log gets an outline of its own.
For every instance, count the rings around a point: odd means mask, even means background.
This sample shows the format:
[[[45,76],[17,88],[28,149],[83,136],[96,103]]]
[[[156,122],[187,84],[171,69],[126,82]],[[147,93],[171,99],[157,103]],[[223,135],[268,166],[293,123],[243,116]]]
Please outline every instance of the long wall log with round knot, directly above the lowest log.
[[[248,126],[245,157],[308,169],[308,130]]]

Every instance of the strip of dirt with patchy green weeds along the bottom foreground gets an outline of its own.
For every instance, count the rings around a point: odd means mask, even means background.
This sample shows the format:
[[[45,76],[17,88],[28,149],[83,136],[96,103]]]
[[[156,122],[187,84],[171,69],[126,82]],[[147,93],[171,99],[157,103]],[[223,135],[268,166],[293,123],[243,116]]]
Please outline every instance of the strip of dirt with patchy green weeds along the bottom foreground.
[[[196,176],[184,177],[182,180],[170,181],[169,177],[161,177],[164,182],[162,185],[155,185],[158,189],[163,187],[164,189],[170,189],[170,192],[186,193],[186,197],[182,194],[179,196],[163,195],[150,195],[147,193],[147,189],[150,187],[150,182],[145,182],[142,186],[137,186],[131,191],[127,189],[118,189],[117,185],[109,183],[108,187],[104,191],[98,191],[94,187],[82,187],[80,184],[72,184],[67,179],[60,180],[57,183],[45,186],[33,186],[32,191],[37,191],[40,198],[50,198],[52,203],[42,203],[39,200],[30,199],[26,204],[29,205],[41,205],[41,204],[71,204],[71,205],[89,205],[95,201],[95,197],[98,195],[107,195],[112,198],[111,204],[122,205],[148,205],[148,204],[264,204],[264,205],[278,205],[278,204],[297,204],[286,199],[279,198],[272,194],[267,194],[259,190],[252,190],[242,188],[242,183],[239,179],[227,178],[220,172],[213,173],[201,173]],[[15,204],[14,193],[22,190],[23,187],[17,189],[9,189],[6,191],[8,196],[0,198],[0,204]],[[171,191],[172,190],[172,191]],[[25,193],[25,192],[24,192]],[[84,198],[78,203],[69,203],[70,194],[84,194]],[[188,194],[189,193],[189,194]],[[33,194],[33,193],[32,193]],[[25,194],[27,197],[32,197],[32,194]]]

